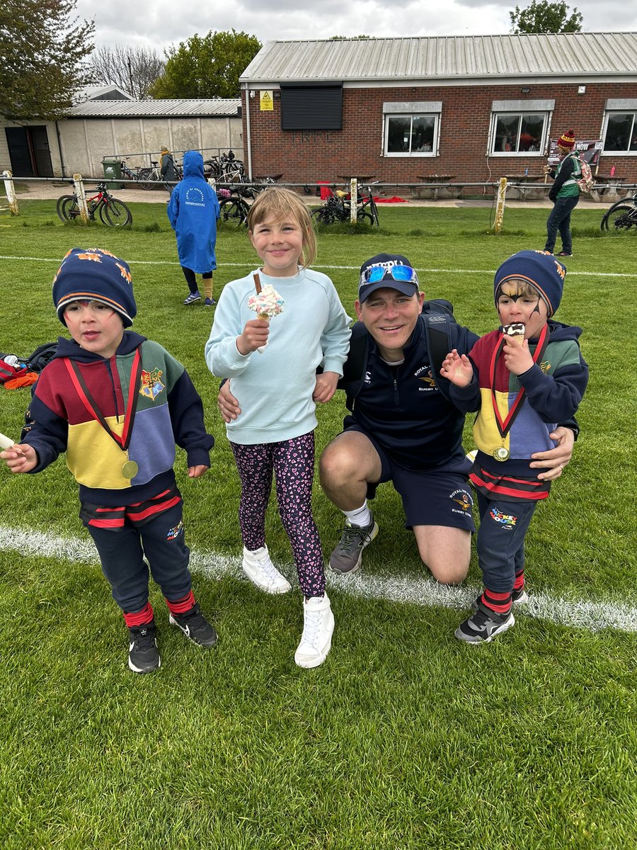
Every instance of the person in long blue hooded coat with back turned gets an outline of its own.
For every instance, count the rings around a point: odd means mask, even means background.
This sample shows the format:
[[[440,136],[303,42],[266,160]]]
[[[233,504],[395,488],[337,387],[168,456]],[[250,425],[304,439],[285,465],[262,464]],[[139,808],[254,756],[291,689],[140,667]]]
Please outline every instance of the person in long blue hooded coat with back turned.
[[[197,150],[183,155],[183,179],[172,192],[166,207],[168,220],[177,235],[177,251],[189,296],[184,304],[201,300],[195,275],[203,280],[206,307],[216,303],[212,297],[212,271],[217,268],[215,243],[219,201],[217,193],[204,177],[204,159]]]

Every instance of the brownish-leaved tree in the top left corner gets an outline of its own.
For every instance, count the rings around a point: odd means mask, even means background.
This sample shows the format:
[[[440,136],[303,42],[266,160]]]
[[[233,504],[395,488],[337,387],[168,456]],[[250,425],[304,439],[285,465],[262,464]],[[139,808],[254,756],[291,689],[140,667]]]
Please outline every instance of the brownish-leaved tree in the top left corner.
[[[95,25],[74,17],[76,0],[0,3],[0,114],[59,118],[91,80]]]

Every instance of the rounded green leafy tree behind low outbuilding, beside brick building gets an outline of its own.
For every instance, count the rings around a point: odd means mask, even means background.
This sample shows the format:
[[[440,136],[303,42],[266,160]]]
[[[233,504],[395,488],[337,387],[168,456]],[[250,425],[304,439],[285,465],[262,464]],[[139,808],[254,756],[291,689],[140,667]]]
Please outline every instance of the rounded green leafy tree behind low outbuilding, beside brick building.
[[[155,98],[237,98],[239,77],[261,49],[247,32],[198,34],[166,53],[166,70],[149,89]]]

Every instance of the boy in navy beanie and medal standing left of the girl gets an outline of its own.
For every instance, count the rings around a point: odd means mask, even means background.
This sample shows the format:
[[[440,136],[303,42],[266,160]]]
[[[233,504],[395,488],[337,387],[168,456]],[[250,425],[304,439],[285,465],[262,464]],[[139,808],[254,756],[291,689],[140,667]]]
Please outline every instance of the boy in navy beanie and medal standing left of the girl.
[[[54,278],[53,298],[72,340],[59,337],[21,443],[0,457],[12,473],[39,473],[66,452],[80,485],[80,518],[128,626],[128,666],[148,673],[161,661],[144,554],[170,623],[200,647],[217,641],[194,601],[172,469],[177,440],[189,478],[199,478],[214,439],[183,365],[158,343],[124,332],[137,314],[127,263],[99,248],[74,248]]]

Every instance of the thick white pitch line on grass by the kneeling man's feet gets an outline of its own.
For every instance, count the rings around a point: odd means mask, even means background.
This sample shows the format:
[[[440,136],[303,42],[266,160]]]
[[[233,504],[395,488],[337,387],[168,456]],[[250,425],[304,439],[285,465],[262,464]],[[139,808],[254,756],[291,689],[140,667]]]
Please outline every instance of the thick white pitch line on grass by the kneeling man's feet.
[[[0,525],[0,552],[15,551],[40,558],[59,558],[79,564],[97,564],[92,541],[75,537],[59,537],[42,531],[9,528]],[[239,577],[240,558],[228,558],[211,552],[191,552],[190,567],[194,573],[212,579],[226,575]],[[292,567],[284,570],[288,578]],[[448,587],[426,576],[354,575],[335,578],[329,571],[328,587],[350,596],[383,599],[398,604],[420,605],[426,608],[468,609],[476,598],[477,587]],[[538,620],[548,620],[560,626],[575,626],[589,632],[614,628],[622,632],[637,632],[637,608],[605,600],[564,599],[548,593],[532,592],[520,609]]]

